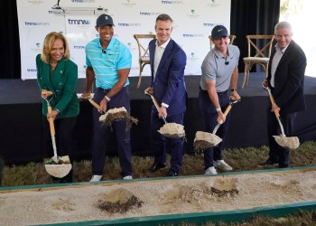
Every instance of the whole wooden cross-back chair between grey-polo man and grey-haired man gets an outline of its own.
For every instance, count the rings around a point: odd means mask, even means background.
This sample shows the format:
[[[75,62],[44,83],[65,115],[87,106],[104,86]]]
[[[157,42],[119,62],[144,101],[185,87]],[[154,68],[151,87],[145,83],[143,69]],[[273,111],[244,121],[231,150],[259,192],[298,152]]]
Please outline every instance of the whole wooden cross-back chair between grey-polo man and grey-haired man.
[[[255,64],[260,64],[263,67],[265,78],[267,77],[274,35],[246,35],[246,40],[248,43],[248,56],[244,58],[245,71],[241,88],[248,84],[249,71]]]

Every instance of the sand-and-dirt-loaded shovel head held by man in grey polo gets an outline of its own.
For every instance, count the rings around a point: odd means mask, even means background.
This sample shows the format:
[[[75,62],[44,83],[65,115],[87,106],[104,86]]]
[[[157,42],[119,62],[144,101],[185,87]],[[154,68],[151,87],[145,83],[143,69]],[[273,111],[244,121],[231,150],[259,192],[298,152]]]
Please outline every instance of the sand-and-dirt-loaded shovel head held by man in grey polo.
[[[197,131],[195,138],[194,138],[194,147],[197,150],[203,150],[209,148],[210,146],[217,146],[222,139],[216,135]]]

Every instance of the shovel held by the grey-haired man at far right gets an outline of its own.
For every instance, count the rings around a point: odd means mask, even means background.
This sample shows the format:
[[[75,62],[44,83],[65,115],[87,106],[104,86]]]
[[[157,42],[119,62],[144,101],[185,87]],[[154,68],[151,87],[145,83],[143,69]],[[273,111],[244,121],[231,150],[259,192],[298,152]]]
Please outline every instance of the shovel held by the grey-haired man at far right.
[[[264,89],[266,89],[269,92],[269,98],[271,100],[272,105],[274,105],[274,96],[272,95],[271,89],[269,87],[263,86]],[[290,149],[296,149],[297,147],[300,146],[300,140],[298,137],[286,137],[284,133],[284,128],[280,119],[280,111],[279,109],[274,109],[274,114],[275,117],[279,123],[280,129],[281,129],[281,135],[279,136],[274,136],[275,142],[279,146],[283,146],[285,148],[290,148]]]

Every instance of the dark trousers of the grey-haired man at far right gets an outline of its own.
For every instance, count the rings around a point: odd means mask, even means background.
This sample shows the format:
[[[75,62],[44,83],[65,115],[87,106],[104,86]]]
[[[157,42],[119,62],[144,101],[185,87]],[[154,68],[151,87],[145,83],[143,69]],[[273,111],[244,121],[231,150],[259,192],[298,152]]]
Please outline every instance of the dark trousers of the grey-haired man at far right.
[[[291,113],[281,115],[281,122],[286,137],[293,137],[294,121],[297,113]],[[267,131],[269,139],[269,158],[274,162],[278,163],[281,167],[289,166],[290,150],[279,146],[273,136],[281,135],[281,129],[277,119],[275,118],[274,112],[271,112],[271,106],[267,110]]]

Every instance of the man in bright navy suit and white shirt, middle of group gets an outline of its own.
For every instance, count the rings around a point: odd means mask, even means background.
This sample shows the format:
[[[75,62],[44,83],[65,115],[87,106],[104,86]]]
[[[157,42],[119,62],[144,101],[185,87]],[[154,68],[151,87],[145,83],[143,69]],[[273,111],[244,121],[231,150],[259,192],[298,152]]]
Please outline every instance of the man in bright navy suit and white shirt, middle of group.
[[[152,108],[152,138],[154,163],[151,171],[166,166],[166,151],[171,154],[171,168],[168,176],[177,176],[181,169],[183,142],[181,138],[163,137],[157,131],[163,127],[163,118],[171,123],[183,125],[186,110],[187,91],[184,83],[184,69],[187,61],[185,52],[171,39],[172,18],[160,14],[154,26],[157,39],[149,43],[151,86],[145,89],[160,104],[159,110]],[[163,117],[163,118],[162,118]]]

